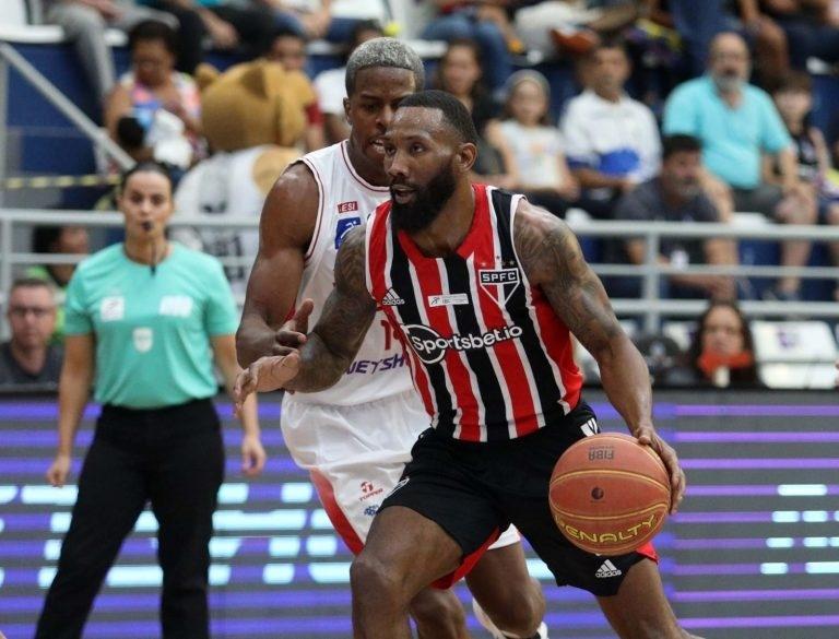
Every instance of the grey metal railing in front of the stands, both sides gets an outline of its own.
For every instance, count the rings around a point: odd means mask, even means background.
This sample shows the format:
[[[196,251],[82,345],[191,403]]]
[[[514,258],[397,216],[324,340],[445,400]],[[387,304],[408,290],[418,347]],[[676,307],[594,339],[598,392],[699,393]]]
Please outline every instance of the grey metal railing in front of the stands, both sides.
[[[12,246],[16,227],[73,224],[88,227],[120,227],[122,216],[119,213],[91,213],[81,211],[38,211],[0,209],[0,293],[9,291],[14,270],[29,264],[74,263],[83,256],[56,256],[33,253]],[[198,228],[249,228],[259,224],[257,217],[225,216],[186,216],[175,215],[169,221],[170,227]],[[647,240],[645,263],[614,264],[592,263],[599,275],[623,275],[642,279],[642,295],[639,299],[613,298],[612,305],[618,316],[643,317],[643,328],[658,329],[663,317],[696,316],[707,306],[702,299],[667,299],[659,297],[662,277],[671,274],[720,274],[748,277],[778,277],[796,275],[803,280],[835,279],[839,281],[839,268],[808,267],[783,268],[773,265],[731,265],[710,267],[689,264],[684,268],[663,267],[658,263],[659,247],[663,238],[681,237],[692,239],[732,238],[780,241],[789,239],[808,239],[814,241],[839,242],[839,227],[829,226],[738,226],[726,224],[688,224],[670,222],[626,223],[626,222],[571,222],[571,229],[579,237],[604,239],[627,239],[630,237]],[[252,257],[220,258],[225,267],[249,268]],[[238,300],[241,303],[241,299]],[[839,303],[835,301],[764,301],[747,300],[742,303],[743,311],[749,317],[783,317],[794,315],[803,318],[839,319]]]

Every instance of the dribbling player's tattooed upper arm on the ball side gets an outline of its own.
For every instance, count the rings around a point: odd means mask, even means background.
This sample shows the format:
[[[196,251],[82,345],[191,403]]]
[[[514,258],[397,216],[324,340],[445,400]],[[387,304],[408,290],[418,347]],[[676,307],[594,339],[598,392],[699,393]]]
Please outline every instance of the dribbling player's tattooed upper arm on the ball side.
[[[545,293],[571,333],[592,354],[607,347],[623,331],[571,229],[553,215],[522,203],[515,237],[528,279]]]

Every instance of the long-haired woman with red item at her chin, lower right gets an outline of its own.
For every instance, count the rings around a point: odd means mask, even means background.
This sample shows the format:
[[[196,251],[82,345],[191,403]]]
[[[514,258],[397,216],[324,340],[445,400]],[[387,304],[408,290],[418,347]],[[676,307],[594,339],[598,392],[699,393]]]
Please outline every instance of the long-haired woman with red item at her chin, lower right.
[[[752,330],[734,301],[711,301],[699,317],[687,357],[699,383],[721,388],[760,386]]]

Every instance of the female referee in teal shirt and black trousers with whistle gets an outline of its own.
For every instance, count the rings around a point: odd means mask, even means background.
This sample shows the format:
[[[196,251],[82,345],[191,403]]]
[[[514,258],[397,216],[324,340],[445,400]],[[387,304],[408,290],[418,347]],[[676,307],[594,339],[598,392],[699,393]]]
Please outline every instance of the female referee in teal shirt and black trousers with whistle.
[[[122,178],[125,244],[80,264],[67,294],[59,445],[47,478],[62,486],[91,387],[102,404],[58,572],[37,639],[82,629],[122,541],[151,501],[163,569],[165,639],[209,637],[209,542],[224,475],[213,360],[229,390],[238,313],[222,265],[166,239],[167,171],[143,163]],[[256,404],[241,411],[246,474],[264,464]]]

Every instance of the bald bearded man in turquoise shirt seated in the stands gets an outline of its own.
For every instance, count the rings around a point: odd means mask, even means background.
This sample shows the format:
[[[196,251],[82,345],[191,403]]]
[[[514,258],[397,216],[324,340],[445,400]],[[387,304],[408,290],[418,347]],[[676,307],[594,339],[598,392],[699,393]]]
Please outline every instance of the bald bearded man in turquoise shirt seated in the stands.
[[[711,44],[708,73],[671,94],[664,110],[664,132],[695,135],[713,181],[722,180],[736,211],[759,212],[781,224],[813,224],[816,203],[799,179],[792,140],[771,98],[748,84],[748,48],[735,33],[718,35]],[[779,182],[763,174],[764,156],[779,168]],[[781,242],[781,265],[804,267],[811,242]],[[780,277],[770,297],[800,298],[800,279]]]

